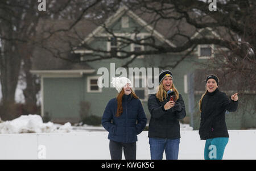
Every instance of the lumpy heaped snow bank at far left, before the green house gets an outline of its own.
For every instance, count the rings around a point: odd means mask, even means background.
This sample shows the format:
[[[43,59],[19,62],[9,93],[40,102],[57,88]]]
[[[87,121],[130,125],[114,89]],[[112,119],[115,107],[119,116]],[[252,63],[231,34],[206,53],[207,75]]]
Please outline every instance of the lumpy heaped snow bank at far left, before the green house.
[[[71,123],[57,127],[52,122],[43,123],[39,115],[22,115],[14,120],[0,123],[0,134],[71,132]]]

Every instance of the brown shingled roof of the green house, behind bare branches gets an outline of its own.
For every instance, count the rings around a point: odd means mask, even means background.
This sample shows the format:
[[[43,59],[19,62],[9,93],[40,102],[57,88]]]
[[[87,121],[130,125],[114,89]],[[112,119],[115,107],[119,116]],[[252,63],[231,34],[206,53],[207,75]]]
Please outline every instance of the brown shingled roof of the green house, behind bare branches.
[[[151,22],[155,17],[154,14],[140,12],[138,10],[130,11],[126,7],[122,7],[110,16],[110,18],[106,19],[105,24],[112,24],[123,14],[129,15],[141,24],[143,28],[146,28],[147,31],[152,32],[152,34],[158,37],[158,39],[173,47],[182,45],[187,41],[183,36],[173,37],[177,31],[180,31],[189,37],[198,35],[196,28],[189,25],[184,20],[166,22],[166,20],[162,19],[152,26]],[[73,22],[73,20],[40,20],[37,28],[37,33],[40,35],[39,39],[47,37],[50,32],[68,29]],[[81,42],[90,41],[94,34],[101,31],[103,31],[103,28],[98,26],[93,20],[82,19],[71,30],[56,32],[51,37],[43,41],[43,47],[40,45],[35,48],[33,53],[34,59],[32,61],[32,69],[93,69],[88,64],[71,62],[73,60],[79,61],[79,56],[71,53],[73,50],[72,45],[81,45]],[[77,46],[77,49],[80,49],[79,46]],[[60,59],[60,56],[67,60]]]

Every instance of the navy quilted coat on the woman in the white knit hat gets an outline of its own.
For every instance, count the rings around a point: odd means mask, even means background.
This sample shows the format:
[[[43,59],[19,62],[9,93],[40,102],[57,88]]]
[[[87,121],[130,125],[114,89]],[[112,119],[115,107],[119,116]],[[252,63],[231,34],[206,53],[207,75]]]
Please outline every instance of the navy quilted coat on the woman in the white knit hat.
[[[123,95],[123,112],[117,117],[117,98],[109,101],[102,116],[102,126],[109,131],[108,139],[122,143],[137,141],[137,135],[146,127],[147,118],[139,99]],[[137,122],[138,121],[138,122]]]

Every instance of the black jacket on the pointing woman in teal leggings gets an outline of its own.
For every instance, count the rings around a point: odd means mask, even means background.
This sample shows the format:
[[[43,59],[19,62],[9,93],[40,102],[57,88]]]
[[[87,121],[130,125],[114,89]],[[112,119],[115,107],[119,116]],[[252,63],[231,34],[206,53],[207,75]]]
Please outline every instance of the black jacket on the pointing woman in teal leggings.
[[[201,103],[201,121],[199,135],[201,140],[214,137],[229,137],[225,122],[225,113],[236,111],[238,101],[232,101],[218,88],[204,95]]]

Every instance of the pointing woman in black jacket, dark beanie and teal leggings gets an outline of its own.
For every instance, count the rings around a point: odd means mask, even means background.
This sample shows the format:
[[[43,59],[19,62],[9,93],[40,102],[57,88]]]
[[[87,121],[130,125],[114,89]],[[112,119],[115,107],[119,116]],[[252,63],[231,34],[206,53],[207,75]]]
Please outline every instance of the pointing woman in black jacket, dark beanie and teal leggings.
[[[225,113],[236,111],[238,106],[237,93],[229,99],[225,93],[218,90],[218,77],[207,76],[205,81],[206,91],[199,101],[201,120],[199,135],[201,140],[206,140],[204,148],[204,159],[221,160],[229,134],[225,122]]]

